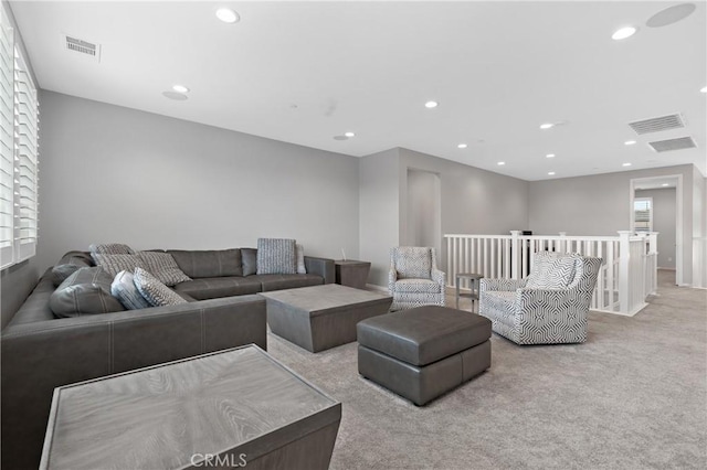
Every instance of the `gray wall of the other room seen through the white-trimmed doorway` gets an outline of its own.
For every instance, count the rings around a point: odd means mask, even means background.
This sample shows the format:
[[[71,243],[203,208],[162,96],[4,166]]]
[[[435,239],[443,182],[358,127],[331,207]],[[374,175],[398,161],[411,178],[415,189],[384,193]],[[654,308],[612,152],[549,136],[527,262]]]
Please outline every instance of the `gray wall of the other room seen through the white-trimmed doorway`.
[[[653,199],[653,231],[658,232],[658,268],[675,269],[675,188],[636,190],[635,196]]]

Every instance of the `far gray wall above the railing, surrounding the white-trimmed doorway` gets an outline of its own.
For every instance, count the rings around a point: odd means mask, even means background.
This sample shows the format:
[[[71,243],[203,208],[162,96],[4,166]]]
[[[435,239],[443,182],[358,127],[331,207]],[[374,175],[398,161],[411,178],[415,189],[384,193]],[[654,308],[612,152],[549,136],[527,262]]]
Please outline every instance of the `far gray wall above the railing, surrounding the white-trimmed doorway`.
[[[692,282],[693,202],[690,183],[695,167],[684,164],[650,170],[622,171],[590,177],[534,181],[529,190],[530,229],[536,235],[567,232],[568,235],[615,236],[630,229],[631,180],[683,175],[683,284]]]

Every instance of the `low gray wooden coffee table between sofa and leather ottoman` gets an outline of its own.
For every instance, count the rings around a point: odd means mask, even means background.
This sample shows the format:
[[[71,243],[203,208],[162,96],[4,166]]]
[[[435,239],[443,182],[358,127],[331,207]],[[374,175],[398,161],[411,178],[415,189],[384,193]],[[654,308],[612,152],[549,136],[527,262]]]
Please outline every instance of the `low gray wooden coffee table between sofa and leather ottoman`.
[[[356,341],[356,324],[388,313],[392,297],[370,290],[324,286],[262,292],[273,333],[309,352]]]

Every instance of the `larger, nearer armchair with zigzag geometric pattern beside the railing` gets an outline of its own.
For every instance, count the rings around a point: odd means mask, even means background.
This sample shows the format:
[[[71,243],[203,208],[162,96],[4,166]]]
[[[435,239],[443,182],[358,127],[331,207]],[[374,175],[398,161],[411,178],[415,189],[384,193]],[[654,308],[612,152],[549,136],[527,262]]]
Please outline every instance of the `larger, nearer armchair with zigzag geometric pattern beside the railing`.
[[[521,280],[482,279],[479,313],[518,344],[583,343],[602,258],[537,253]]]

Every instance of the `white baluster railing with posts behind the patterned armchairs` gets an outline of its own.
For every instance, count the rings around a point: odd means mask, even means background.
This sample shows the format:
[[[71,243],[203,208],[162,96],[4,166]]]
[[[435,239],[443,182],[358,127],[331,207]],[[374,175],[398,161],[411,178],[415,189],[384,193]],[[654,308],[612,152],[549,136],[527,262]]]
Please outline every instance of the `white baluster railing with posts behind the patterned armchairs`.
[[[645,298],[657,287],[657,233],[619,236],[444,235],[446,239],[447,287],[460,273],[487,278],[521,279],[532,267],[538,252],[579,253],[604,260],[599,271],[590,308],[633,316],[645,307]],[[468,289],[468,280],[462,279]]]

